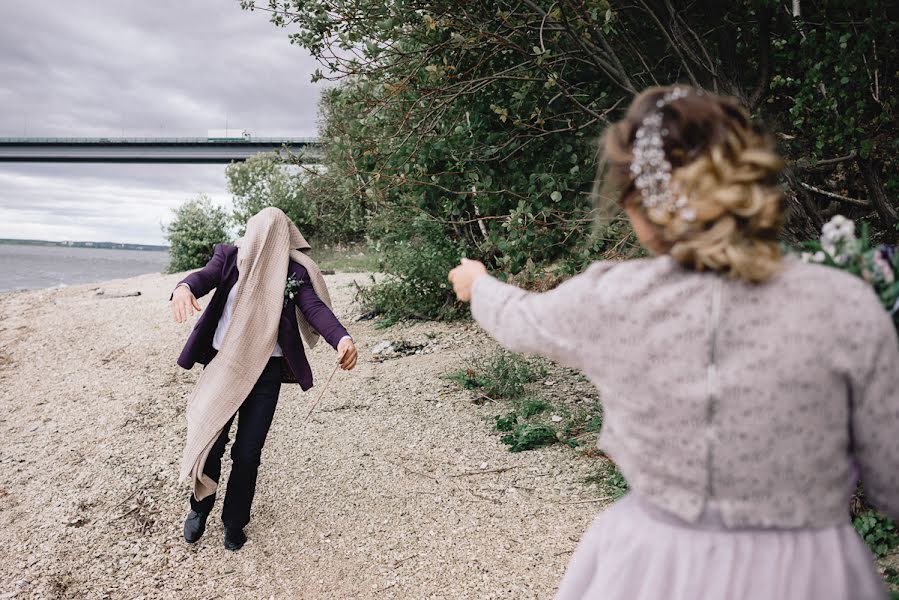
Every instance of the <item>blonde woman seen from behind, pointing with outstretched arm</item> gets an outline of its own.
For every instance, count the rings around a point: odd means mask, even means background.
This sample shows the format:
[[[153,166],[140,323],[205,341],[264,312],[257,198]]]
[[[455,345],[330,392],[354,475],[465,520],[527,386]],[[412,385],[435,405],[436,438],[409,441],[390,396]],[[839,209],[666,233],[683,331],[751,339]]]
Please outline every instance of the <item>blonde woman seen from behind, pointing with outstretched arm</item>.
[[[849,522],[861,475],[899,517],[899,342],[862,280],[779,252],[771,141],[734,100],[638,96],[602,142],[657,256],[599,262],[553,291],[450,273],[502,345],[584,371],[600,447],[631,493],[571,559],[558,600],[885,597]]]

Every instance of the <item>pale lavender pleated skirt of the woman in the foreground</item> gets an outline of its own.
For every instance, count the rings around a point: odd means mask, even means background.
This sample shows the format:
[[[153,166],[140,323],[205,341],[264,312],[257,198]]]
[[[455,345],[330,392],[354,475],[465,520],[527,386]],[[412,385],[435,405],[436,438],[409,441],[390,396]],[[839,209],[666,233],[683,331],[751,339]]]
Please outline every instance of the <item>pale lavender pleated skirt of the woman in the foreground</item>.
[[[630,494],[581,539],[556,600],[883,600],[870,551],[847,523],[727,530]]]

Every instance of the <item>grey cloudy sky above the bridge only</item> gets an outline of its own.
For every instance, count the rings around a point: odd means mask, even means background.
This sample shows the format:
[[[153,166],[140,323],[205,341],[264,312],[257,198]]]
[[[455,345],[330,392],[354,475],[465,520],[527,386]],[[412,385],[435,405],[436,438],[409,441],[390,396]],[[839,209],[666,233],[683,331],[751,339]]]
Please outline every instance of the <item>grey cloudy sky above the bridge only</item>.
[[[60,128],[158,135],[160,126],[205,133],[226,118],[260,135],[315,133],[315,61],[264,13],[242,11],[236,1],[3,10],[0,85],[12,97],[0,134],[20,134],[26,115],[35,135]]]

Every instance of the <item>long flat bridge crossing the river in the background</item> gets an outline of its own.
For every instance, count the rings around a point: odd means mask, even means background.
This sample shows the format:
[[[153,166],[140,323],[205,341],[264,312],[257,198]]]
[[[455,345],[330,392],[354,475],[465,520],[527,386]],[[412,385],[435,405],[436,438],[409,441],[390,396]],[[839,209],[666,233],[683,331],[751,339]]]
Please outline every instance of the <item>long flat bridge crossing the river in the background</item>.
[[[317,138],[0,138],[0,162],[227,164],[273,151],[321,158]]]

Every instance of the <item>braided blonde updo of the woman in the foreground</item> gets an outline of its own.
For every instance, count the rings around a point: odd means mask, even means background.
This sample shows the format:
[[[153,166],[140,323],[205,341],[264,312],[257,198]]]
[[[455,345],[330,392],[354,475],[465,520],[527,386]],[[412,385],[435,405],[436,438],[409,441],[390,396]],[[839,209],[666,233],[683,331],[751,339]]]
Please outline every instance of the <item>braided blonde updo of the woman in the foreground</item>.
[[[765,281],[780,267],[778,236],[786,214],[776,181],[783,162],[771,137],[735,99],[678,87],[690,93],[661,109],[657,103],[672,88],[646,90],[606,131],[599,197],[614,190],[620,205],[638,207],[682,266]],[[671,180],[689,199],[689,220],[677,212],[645,210],[630,173],[636,131],[655,110],[662,114]]]

